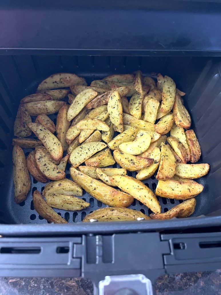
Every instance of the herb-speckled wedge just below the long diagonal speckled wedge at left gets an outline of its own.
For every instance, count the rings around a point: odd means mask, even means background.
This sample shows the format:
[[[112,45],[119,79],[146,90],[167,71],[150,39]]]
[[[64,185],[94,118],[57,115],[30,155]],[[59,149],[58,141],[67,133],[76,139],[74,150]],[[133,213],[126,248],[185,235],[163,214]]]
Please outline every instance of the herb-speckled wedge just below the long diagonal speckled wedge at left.
[[[60,180],[65,178],[65,172],[59,169],[59,167],[52,162],[51,158],[47,156],[43,148],[38,148],[35,151],[35,160],[36,160],[37,168],[48,179]]]

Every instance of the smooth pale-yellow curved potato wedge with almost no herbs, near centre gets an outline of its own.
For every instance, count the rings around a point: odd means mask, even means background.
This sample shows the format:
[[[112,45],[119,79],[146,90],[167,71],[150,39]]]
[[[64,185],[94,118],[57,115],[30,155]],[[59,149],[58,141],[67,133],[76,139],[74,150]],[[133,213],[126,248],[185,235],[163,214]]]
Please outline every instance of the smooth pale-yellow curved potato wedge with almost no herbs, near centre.
[[[123,142],[118,148],[121,152],[139,155],[149,148],[151,136],[144,130],[139,130],[133,141]]]

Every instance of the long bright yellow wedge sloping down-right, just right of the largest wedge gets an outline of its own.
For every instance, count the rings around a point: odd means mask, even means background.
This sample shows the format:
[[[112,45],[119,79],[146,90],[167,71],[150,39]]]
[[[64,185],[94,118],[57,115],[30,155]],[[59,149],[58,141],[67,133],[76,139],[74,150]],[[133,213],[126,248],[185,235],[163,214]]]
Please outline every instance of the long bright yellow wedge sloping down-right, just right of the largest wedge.
[[[135,199],[150,208],[154,213],[160,213],[161,207],[154,193],[144,183],[130,176],[113,175],[110,178],[113,185],[122,191],[133,195]]]

